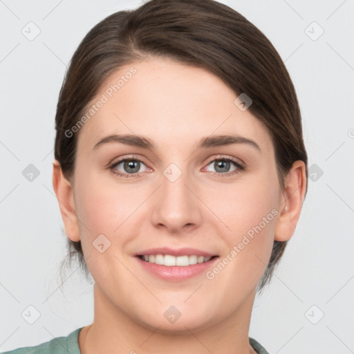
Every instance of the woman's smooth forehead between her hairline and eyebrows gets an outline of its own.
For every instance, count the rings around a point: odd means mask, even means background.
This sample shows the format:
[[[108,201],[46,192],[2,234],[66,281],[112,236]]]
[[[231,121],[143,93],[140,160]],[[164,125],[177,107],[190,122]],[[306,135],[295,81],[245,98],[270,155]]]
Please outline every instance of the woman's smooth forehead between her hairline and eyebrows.
[[[92,149],[104,136],[130,133],[149,136],[163,148],[234,133],[272,149],[267,129],[235,99],[231,88],[203,68],[160,57],[132,62],[112,73],[88,104],[78,145]]]

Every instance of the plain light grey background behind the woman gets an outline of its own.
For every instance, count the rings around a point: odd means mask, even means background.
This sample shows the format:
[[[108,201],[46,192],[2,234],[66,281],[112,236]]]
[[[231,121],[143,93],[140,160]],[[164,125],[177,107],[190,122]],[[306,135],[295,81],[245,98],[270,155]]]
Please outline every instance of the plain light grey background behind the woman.
[[[295,236],[255,300],[250,336],[274,354],[354,353],[354,1],[221,2],[262,30],[285,61],[312,175]],[[140,4],[0,1],[0,351],[93,321],[92,284],[77,265],[64,283],[59,279],[66,236],[51,179],[55,109],[66,65],[86,32]],[[40,30],[32,41],[21,32],[35,34],[30,21]],[[32,182],[22,174],[30,164],[39,170]],[[33,324],[28,306],[40,313]]]

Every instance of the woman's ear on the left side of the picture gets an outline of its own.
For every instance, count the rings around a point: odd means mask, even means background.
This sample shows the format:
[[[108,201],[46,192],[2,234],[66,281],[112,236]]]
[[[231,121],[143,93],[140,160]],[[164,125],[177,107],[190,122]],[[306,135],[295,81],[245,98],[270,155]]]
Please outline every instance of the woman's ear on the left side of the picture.
[[[80,241],[73,187],[65,178],[62,167],[57,160],[53,162],[53,188],[57,195],[66,236],[72,241]]]

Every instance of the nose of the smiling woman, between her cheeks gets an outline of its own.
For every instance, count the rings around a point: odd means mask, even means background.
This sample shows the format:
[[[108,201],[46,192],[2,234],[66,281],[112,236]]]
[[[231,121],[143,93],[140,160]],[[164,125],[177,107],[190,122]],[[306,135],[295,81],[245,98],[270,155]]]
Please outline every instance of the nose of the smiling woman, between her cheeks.
[[[203,203],[198,199],[198,187],[187,172],[180,174],[176,167],[164,172],[160,188],[154,196],[153,225],[165,228],[168,234],[185,234],[201,225]],[[176,176],[178,178],[175,180]]]

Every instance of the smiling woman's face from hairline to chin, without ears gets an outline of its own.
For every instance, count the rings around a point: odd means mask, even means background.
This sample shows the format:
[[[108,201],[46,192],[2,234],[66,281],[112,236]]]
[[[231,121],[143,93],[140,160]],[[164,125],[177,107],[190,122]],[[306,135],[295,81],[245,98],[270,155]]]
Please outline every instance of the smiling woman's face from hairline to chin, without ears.
[[[112,317],[198,330],[251,310],[282,191],[270,134],[235,99],[212,73],[155,57],[92,101],[73,196],[95,301]]]

